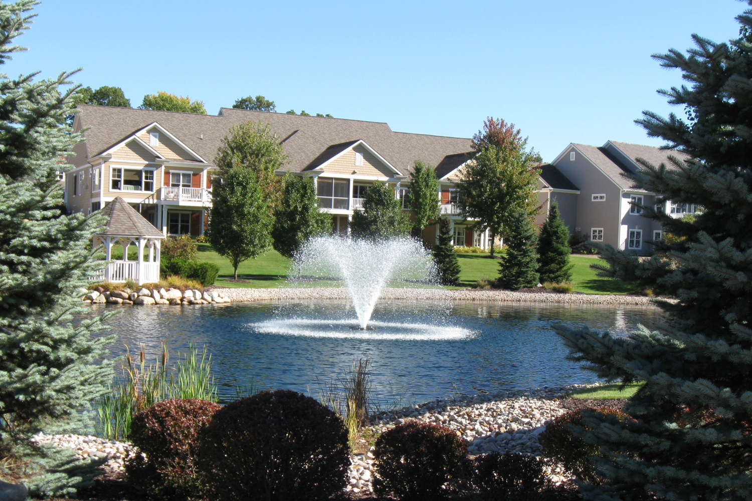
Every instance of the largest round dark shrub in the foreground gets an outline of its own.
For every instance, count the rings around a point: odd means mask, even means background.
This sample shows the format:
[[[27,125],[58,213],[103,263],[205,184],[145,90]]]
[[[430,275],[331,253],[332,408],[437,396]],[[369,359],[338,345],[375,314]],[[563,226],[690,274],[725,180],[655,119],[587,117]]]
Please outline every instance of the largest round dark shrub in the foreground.
[[[295,391],[262,391],[220,409],[203,430],[199,468],[211,499],[329,499],[345,486],[347,430]]]

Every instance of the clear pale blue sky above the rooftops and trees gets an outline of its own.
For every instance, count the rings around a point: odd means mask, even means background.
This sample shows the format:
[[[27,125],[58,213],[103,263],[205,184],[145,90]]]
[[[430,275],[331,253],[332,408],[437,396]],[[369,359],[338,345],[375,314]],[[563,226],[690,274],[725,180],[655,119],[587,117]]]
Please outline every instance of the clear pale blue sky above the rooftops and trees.
[[[746,5],[46,0],[20,38],[29,52],[2,69],[83,68],[78,81],[120,86],[133,106],[164,90],[201,99],[212,114],[260,94],[277,111],[459,137],[497,116],[550,161],[570,142],[660,145],[633,120],[669,113],[656,89],[681,78],[650,54],[687,49],[695,32],[735,37]]]

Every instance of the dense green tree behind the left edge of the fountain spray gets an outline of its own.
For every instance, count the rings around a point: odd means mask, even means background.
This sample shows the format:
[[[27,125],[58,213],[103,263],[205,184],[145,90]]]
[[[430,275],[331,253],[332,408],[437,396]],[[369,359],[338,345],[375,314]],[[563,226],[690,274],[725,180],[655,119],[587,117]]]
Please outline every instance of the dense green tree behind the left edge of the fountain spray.
[[[306,241],[332,231],[332,216],[319,210],[312,177],[287,174],[282,193],[282,201],[274,211],[271,237],[274,249],[292,258]]]

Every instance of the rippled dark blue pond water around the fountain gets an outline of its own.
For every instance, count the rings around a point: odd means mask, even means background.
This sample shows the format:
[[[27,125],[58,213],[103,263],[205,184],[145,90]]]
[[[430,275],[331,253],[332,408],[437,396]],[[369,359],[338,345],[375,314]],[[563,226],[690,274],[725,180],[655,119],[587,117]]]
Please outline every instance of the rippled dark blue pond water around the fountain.
[[[653,306],[539,303],[386,301],[377,330],[350,329],[355,315],[344,301],[217,304],[212,306],[92,306],[123,311],[108,322],[117,340],[113,356],[143,343],[154,360],[166,340],[171,356],[190,343],[212,355],[220,397],[238,386],[286,388],[317,397],[353,360],[373,363],[374,397],[405,405],[457,393],[595,382],[550,326],[587,324],[627,332],[664,318]],[[277,328],[277,324],[284,328]],[[417,335],[402,324],[420,326]],[[271,325],[271,327],[270,327]],[[277,327],[275,327],[277,326]],[[311,327],[313,326],[313,327]],[[392,326],[392,327],[390,327]]]

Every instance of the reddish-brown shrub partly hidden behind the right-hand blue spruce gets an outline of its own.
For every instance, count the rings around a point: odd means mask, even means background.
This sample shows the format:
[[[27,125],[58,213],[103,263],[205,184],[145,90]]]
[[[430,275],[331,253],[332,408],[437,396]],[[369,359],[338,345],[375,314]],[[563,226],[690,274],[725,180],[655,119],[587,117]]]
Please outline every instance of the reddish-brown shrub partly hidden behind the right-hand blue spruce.
[[[610,407],[577,409],[554,418],[553,422],[548,424],[546,430],[541,433],[538,441],[543,446],[544,457],[561,463],[568,472],[580,480],[596,482],[598,478],[593,473],[590,457],[598,454],[599,449],[574,432],[575,427],[588,429],[583,419],[583,411],[614,415],[620,420],[629,418],[623,412]]]

